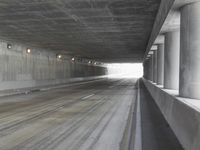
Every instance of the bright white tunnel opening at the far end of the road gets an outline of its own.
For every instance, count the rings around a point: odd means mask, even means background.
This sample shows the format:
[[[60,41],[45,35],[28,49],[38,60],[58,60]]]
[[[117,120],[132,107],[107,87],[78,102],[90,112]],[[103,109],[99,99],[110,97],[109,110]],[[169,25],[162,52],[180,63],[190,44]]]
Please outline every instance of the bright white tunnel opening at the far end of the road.
[[[142,63],[113,63],[107,65],[109,78],[140,78],[143,76]]]

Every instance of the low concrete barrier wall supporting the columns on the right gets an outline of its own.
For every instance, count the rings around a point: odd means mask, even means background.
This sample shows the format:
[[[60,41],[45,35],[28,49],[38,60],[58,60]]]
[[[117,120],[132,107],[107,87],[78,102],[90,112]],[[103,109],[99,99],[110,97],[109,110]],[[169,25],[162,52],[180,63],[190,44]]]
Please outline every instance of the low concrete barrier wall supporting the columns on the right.
[[[161,89],[145,79],[143,81],[183,148],[199,150],[199,100],[178,97],[175,90]]]

